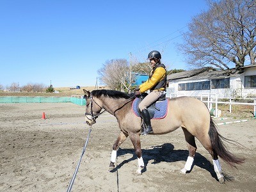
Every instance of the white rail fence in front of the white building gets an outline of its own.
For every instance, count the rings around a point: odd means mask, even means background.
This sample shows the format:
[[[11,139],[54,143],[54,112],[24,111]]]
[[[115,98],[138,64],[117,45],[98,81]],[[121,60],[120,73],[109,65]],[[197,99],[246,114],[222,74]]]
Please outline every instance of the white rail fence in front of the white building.
[[[180,95],[180,94],[177,94],[177,93],[170,93],[170,98],[173,98],[173,97],[180,97],[180,96],[185,96],[184,94]],[[204,100],[204,99],[207,99],[207,100]],[[220,101],[220,98],[218,98],[218,94],[215,94],[215,93],[205,93],[205,94],[201,94],[201,97],[200,97],[200,100],[202,100],[202,102],[205,102],[207,103],[207,108],[209,109],[209,111],[211,111],[212,109],[212,104],[214,103],[215,104],[215,114],[214,116],[218,116],[218,104],[229,104],[229,113],[231,113],[232,111],[232,105],[246,105],[246,106],[253,106],[253,116],[256,115],[256,98],[246,98],[246,99],[249,99],[249,100],[252,100],[253,102],[251,103],[248,103],[248,102],[234,102],[232,100],[234,99],[243,99],[243,98],[230,98],[229,99],[229,102],[223,102],[223,101]]]

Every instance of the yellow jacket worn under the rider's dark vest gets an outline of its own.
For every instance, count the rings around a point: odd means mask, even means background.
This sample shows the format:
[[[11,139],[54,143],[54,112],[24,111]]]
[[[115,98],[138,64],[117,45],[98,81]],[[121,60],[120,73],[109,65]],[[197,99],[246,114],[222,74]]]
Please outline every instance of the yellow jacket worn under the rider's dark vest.
[[[166,76],[166,70],[163,67],[157,67],[156,70],[154,71],[154,74],[150,78],[148,78],[145,83],[140,85],[140,92],[147,92],[147,90],[150,90],[153,88],[157,83],[160,81],[163,81],[163,79]],[[159,88],[159,89],[154,89],[154,90],[164,90],[164,87]]]

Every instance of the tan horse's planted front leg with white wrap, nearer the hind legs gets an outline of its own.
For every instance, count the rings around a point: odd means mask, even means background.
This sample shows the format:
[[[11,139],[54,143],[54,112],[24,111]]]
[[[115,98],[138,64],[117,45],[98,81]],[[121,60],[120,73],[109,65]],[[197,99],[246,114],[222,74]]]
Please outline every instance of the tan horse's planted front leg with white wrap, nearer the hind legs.
[[[141,144],[140,144],[140,133],[129,134],[129,137],[131,138],[131,141],[134,146],[134,150],[135,150],[135,153],[136,153],[137,159],[138,159],[138,170],[136,170],[136,173],[141,175],[141,170],[143,170],[143,168],[144,168],[144,161],[142,158],[142,151],[141,151]]]

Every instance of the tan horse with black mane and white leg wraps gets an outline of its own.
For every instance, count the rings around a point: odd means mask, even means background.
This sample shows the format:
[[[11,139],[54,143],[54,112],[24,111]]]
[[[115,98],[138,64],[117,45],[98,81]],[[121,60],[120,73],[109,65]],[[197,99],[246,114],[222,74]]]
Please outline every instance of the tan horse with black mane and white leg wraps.
[[[83,91],[84,99],[86,99],[86,124],[92,126],[96,123],[96,118],[99,115],[104,113],[104,111],[108,111],[108,113],[116,117],[120,127],[118,138],[113,144],[109,171],[115,168],[116,151],[129,136],[138,159],[136,173],[140,175],[141,170],[144,168],[140,142],[141,118],[134,115],[132,111],[132,100],[134,100],[134,97],[115,90]],[[225,178],[221,172],[221,164],[218,157],[221,157],[225,163],[235,168],[236,164],[244,163],[244,158],[234,156],[223,143],[223,141],[232,140],[224,138],[218,132],[216,125],[212,121],[209,109],[205,106],[204,102],[185,96],[169,99],[168,102],[167,115],[162,119],[151,120],[154,131],[152,134],[166,134],[181,127],[189,152],[184,168],[180,170],[183,174],[191,171],[196,153],[196,137],[211,154],[214,172],[219,182],[223,183]]]

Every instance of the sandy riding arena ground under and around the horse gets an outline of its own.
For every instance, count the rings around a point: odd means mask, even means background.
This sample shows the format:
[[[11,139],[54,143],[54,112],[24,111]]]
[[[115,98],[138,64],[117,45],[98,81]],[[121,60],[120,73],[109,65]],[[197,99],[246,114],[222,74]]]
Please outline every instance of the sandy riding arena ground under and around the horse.
[[[72,103],[0,104],[0,191],[67,191],[89,130],[84,122],[84,107]],[[193,170],[179,173],[188,156],[182,129],[141,137],[146,168],[139,176],[134,175],[137,159],[128,138],[110,173],[119,129],[115,117],[104,113],[92,127],[72,191],[256,191],[256,120],[218,128],[244,145],[227,144],[230,151],[246,157],[237,169],[220,160],[225,184],[216,180],[211,156],[199,141]]]

